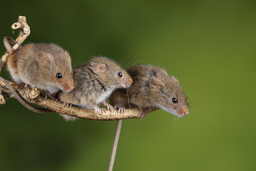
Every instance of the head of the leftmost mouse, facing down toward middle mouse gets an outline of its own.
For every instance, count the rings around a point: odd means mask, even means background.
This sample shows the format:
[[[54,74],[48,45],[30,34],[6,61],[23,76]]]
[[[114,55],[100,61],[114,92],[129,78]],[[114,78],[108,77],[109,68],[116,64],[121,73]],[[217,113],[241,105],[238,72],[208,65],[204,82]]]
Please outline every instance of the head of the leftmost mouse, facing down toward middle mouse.
[[[38,54],[39,67],[43,71],[39,74],[42,74],[48,83],[69,92],[74,88],[70,55],[57,45],[49,44],[49,46],[54,50]]]

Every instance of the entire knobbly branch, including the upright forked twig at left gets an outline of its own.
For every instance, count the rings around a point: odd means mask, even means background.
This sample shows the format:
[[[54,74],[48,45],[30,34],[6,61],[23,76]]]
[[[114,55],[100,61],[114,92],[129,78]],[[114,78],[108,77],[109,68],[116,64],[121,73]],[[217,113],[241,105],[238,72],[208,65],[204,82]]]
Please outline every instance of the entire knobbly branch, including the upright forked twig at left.
[[[17,49],[30,34],[30,28],[27,25],[26,17],[19,16],[18,22],[14,23],[11,28],[20,30],[18,37],[16,38],[16,40],[12,45],[13,49]],[[2,69],[6,66],[8,56],[9,56],[9,53],[6,52],[0,59],[0,74]],[[45,99],[45,97],[40,93],[40,90],[37,88],[30,89],[30,88],[25,88],[24,86],[18,86],[16,83],[9,80],[7,80],[7,82],[27,102],[37,104],[46,109],[52,110],[54,112],[62,113],[65,115],[76,117],[76,118],[88,119],[88,120],[120,120],[120,119],[131,119],[131,118],[140,119],[141,117],[141,114],[139,115],[139,112],[140,112],[139,108],[127,109],[125,110],[126,112],[122,114],[118,113],[118,110],[115,110],[112,112],[107,111],[106,113],[101,113],[98,116],[95,114],[95,110],[91,110],[91,109],[78,108],[76,106],[72,106],[71,108],[65,108],[62,106],[63,105],[62,102],[55,101],[50,98]],[[10,97],[14,97],[14,95],[8,89],[6,84],[3,81],[0,81],[0,104],[6,103],[4,99],[4,94],[9,94]],[[146,113],[150,113],[156,110],[158,109],[157,108],[146,109]]]

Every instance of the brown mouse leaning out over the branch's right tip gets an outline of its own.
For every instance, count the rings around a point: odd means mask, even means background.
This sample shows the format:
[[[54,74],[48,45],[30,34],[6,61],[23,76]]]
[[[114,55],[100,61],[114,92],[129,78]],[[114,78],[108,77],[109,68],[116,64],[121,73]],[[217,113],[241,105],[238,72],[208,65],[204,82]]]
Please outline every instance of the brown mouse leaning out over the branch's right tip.
[[[110,96],[110,104],[119,108],[119,112],[125,112],[125,108],[139,106],[142,119],[146,116],[145,109],[154,106],[176,116],[188,114],[187,98],[178,80],[169,76],[164,69],[135,65],[127,69],[127,72],[133,79],[128,91],[117,89]]]

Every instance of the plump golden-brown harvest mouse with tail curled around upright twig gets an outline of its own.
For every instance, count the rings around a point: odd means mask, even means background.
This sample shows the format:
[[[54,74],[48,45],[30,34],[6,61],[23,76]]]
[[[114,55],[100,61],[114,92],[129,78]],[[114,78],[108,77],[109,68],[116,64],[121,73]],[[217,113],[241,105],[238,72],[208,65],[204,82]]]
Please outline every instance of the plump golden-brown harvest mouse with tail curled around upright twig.
[[[27,44],[14,50],[5,37],[4,45],[9,52],[7,69],[18,84],[25,83],[38,88],[51,98],[60,90],[69,92],[74,80],[71,58],[67,51],[55,44]]]

